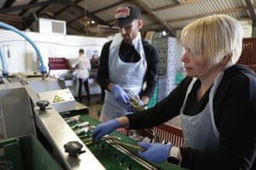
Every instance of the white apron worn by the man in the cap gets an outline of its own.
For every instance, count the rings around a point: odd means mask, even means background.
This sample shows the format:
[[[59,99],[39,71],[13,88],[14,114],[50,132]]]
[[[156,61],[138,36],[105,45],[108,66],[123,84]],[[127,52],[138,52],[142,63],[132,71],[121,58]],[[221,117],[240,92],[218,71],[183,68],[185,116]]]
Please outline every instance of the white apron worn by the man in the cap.
[[[111,82],[119,84],[127,94],[132,97],[137,96],[143,88],[143,78],[147,71],[147,61],[145,58],[143,44],[140,34],[133,41],[133,46],[141,59],[134,62],[123,62],[119,58],[119,48],[123,37],[118,33],[113,37],[113,42],[109,47],[108,71]],[[115,101],[113,94],[106,92],[105,102],[102,106],[100,116],[101,122],[107,122],[119,116],[125,116],[131,112],[126,111],[126,105]]]

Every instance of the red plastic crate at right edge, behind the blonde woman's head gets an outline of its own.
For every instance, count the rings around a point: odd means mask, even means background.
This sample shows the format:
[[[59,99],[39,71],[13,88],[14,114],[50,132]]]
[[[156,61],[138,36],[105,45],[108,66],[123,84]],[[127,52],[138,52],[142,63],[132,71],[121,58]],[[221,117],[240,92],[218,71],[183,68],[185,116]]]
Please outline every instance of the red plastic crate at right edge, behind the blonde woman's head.
[[[241,57],[238,63],[242,65],[256,64],[256,37],[243,38]]]

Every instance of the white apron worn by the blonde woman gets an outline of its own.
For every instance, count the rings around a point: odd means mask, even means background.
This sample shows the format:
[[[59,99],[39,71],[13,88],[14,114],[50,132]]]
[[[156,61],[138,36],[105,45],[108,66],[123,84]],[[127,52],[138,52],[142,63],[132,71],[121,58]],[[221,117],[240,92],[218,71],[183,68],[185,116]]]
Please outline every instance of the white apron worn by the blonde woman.
[[[209,101],[206,108],[198,115],[188,116],[183,114],[184,106],[189,93],[196,81],[196,78],[192,80],[187,89],[186,98],[183,102],[181,109],[181,121],[183,127],[184,145],[186,147],[193,148],[195,150],[214,150],[218,149],[218,129],[215,125],[213,115],[213,97],[218,88],[219,82],[223,77],[223,73],[218,74],[215,78],[213,86],[210,90]]]

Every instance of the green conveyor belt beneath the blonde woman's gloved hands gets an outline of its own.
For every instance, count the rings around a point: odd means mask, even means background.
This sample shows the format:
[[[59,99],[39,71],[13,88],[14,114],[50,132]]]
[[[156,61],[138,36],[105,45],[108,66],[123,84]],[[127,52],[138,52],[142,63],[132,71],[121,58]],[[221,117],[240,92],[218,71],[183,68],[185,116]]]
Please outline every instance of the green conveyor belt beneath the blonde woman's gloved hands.
[[[81,120],[83,122],[89,122],[90,125],[97,125],[99,122],[96,121],[94,118],[88,115],[81,115]],[[114,131],[109,135],[118,136],[121,138],[122,142],[127,144],[137,144],[137,141],[125,136],[122,133]],[[99,161],[101,161],[102,165],[106,167],[106,169],[116,169],[116,170],[143,170],[143,169],[151,169],[148,167],[143,167],[139,162],[135,161],[129,156],[129,154],[122,153],[122,151],[117,150],[116,147],[113,147],[112,144],[108,144],[105,141],[100,142],[99,144],[89,144],[87,145],[88,148],[92,151],[92,153],[97,157]],[[127,149],[130,151],[130,154],[137,155],[137,150]],[[142,158],[140,158],[142,159]],[[143,160],[145,161],[145,160]],[[160,164],[153,164],[147,161],[147,163],[151,166],[156,167],[155,169],[168,169],[168,170],[182,170],[184,168],[178,167],[172,163],[163,162]]]

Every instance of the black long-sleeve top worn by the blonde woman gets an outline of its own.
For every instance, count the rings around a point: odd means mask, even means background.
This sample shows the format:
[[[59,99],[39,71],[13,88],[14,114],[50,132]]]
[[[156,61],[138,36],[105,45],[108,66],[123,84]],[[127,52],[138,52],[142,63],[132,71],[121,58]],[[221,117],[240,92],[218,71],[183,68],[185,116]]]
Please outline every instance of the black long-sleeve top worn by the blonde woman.
[[[131,114],[130,128],[154,127],[177,116],[191,77],[184,78],[177,88],[154,108]],[[188,96],[184,113],[196,115],[208,102],[208,95],[196,101],[200,81],[195,82]],[[214,121],[219,133],[218,150],[181,148],[182,167],[195,170],[256,169],[256,76],[244,65],[234,65],[224,71],[213,99]],[[201,129],[203,130],[203,129]]]

